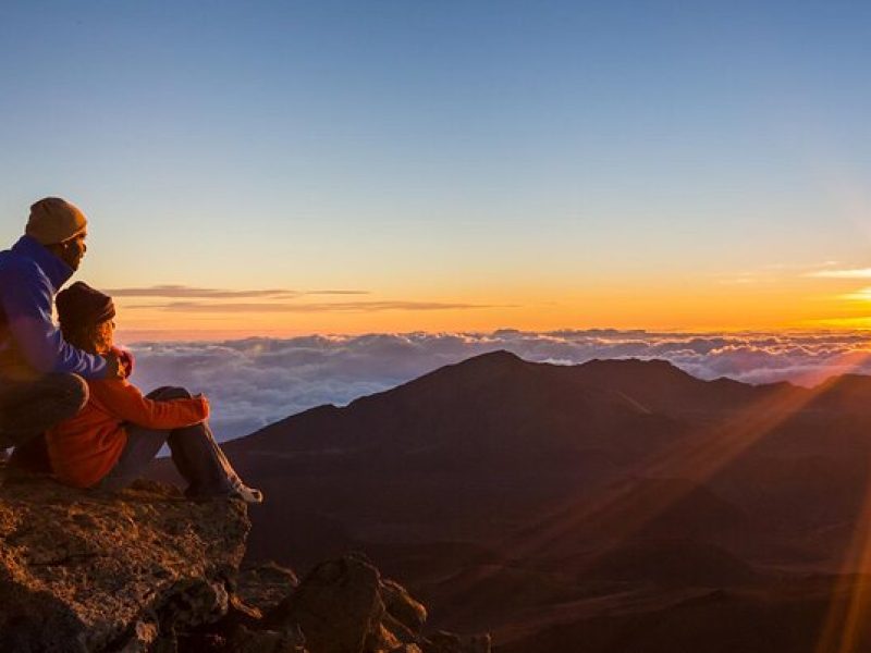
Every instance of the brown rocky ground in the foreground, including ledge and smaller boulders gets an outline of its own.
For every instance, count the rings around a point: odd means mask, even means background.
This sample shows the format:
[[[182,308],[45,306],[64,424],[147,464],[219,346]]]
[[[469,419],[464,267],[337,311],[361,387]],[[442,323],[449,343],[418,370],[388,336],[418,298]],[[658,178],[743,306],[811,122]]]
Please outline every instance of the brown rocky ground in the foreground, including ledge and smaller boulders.
[[[143,482],[76,491],[0,466],[0,651],[486,653],[428,632],[427,611],[349,553],[297,578],[242,566],[235,501]]]

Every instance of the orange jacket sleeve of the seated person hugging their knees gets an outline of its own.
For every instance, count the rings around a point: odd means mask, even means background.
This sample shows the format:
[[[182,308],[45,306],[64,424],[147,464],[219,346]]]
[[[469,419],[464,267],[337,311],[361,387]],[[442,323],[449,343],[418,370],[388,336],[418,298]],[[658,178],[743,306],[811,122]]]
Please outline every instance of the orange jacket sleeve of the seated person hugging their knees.
[[[118,419],[146,429],[181,429],[209,417],[206,397],[155,402],[126,380],[89,383],[90,396]]]

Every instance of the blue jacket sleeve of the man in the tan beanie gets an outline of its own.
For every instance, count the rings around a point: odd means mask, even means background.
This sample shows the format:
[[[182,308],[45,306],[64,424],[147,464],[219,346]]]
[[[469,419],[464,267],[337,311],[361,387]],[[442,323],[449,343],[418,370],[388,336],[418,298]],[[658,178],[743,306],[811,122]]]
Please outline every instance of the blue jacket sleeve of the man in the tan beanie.
[[[36,270],[8,270],[0,279],[0,298],[10,335],[38,372],[72,372],[102,379],[107,364],[63,340],[51,319],[52,294],[48,280]]]

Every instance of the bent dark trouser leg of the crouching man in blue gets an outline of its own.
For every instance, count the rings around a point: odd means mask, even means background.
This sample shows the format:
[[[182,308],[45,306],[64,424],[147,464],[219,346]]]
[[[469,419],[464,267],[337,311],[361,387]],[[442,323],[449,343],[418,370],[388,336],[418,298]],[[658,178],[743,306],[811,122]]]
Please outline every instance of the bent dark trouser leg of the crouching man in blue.
[[[46,374],[29,382],[0,379],[0,448],[24,444],[78,412],[88,385],[76,374]]]

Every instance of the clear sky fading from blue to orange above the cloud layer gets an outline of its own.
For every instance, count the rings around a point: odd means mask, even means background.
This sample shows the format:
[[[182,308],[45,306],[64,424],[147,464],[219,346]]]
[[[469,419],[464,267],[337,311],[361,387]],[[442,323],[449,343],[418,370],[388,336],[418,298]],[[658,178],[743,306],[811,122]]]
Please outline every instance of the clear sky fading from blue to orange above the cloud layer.
[[[0,245],[136,340],[871,326],[867,2],[0,3]]]

